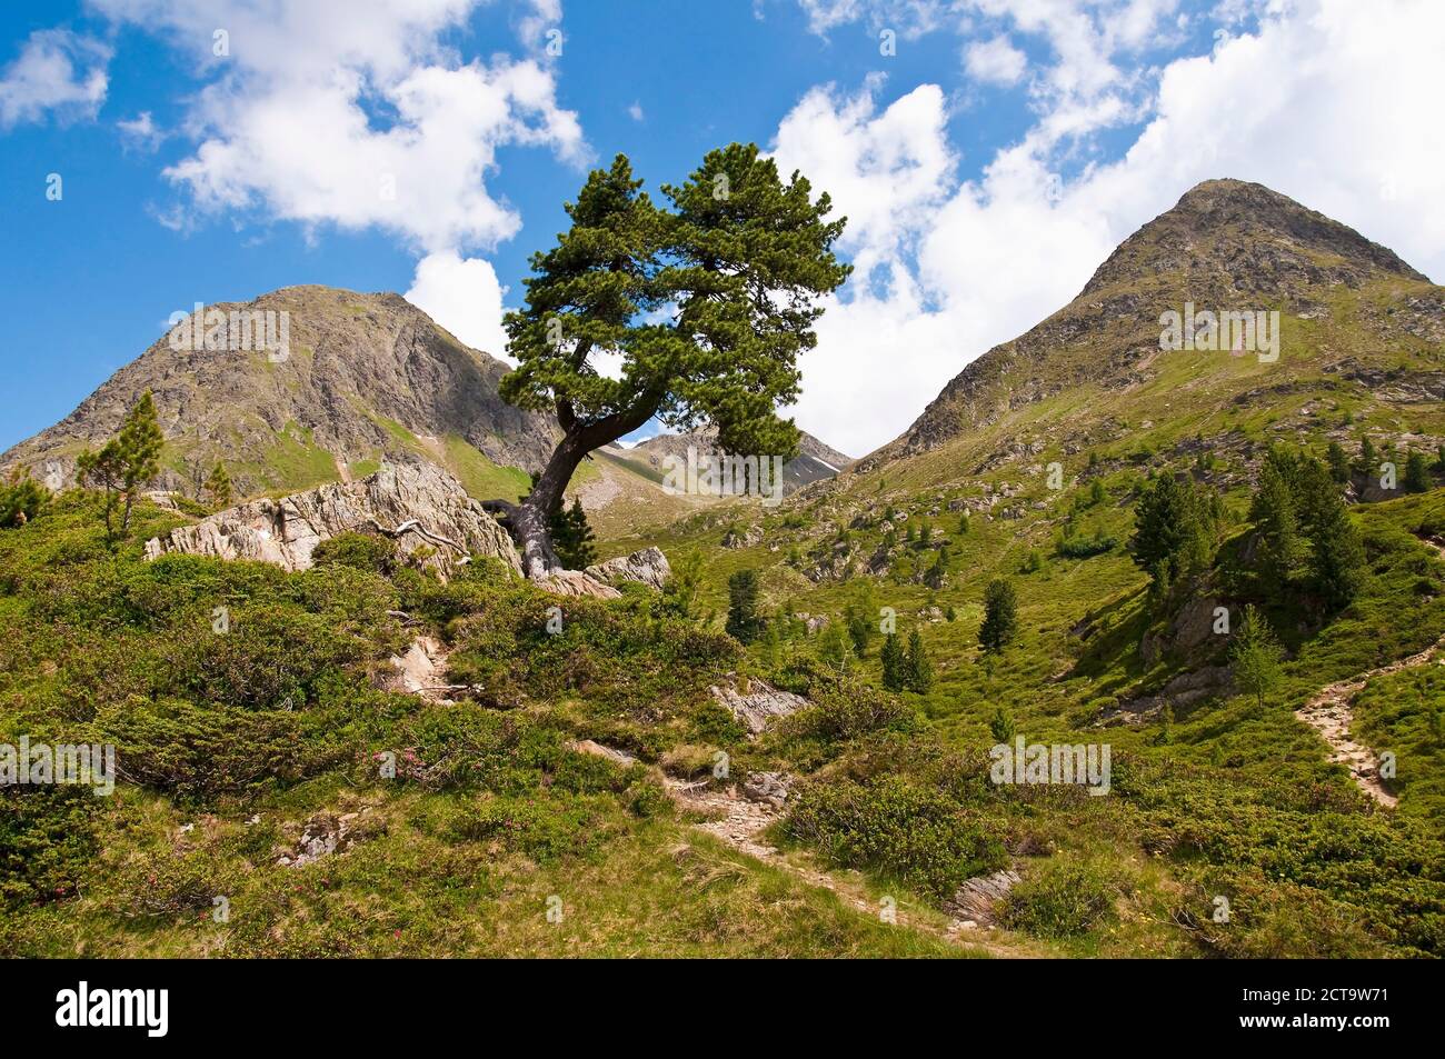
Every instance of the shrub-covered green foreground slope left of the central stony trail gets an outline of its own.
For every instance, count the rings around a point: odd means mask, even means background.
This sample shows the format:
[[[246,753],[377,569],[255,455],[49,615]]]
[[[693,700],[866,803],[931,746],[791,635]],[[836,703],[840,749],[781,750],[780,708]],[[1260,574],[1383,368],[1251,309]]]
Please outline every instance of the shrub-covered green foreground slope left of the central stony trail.
[[[116,743],[124,773],[113,798],[0,793],[4,955],[961,954],[692,831],[646,769],[566,750],[603,717],[644,730],[626,718],[663,672],[672,724],[699,738],[724,637],[636,600],[579,601],[548,637],[552,598],[486,571],[442,587],[366,563],[144,563],[139,542],[176,516],[140,506],[116,552],[95,517],[72,496],[0,535],[0,741]],[[412,634],[399,607],[525,708],[376,691]],[[381,750],[399,779],[377,777]],[[355,844],[277,865],[322,812],[360,813]]]

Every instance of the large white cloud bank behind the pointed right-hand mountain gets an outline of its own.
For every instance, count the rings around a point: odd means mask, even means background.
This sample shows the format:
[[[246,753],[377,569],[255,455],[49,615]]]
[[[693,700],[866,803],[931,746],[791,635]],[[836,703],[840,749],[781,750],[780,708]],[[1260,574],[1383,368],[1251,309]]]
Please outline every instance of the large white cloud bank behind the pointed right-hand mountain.
[[[1017,32],[1084,7],[968,4],[997,9]],[[1175,7],[1101,6],[1108,17],[1094,23],[1090,48],[1127,53],[1147,36],[1142,26],[1162,25]],[[897,436],[970,360],[1071,301],[1114,246],[1209,178],[1264,183],[1445,277],[1445,124],[1435,113],[1445,6],[1298,0],[1259,14],[1256,33],[1165,64],[1142,101],[1114,91],[1139,85],[1137,71],[1090,72],[1090,48],[1071,52],[1062,66],[1072,66],[1049,75],[1036,124],[961,185],[946,168],[932,179],[890,179],[880,162],[887,147],[876,143],[876,82],[867,98],[809,92],[780,123],[777,155],[834,194],[850,215],[848,246],[871,261],[874,282],[855,276],[829,299],[818,348],[802,361],[799,426],[853,452]],[[929,94],[941,107],[932,85],[903,100]],[[1139,105],[1144,127],[1121,156],[1069,182],[1053,175],[1065,140],[1087,142]],[[941,121],[907,127],[886,143],[912,157],[951,157]]]

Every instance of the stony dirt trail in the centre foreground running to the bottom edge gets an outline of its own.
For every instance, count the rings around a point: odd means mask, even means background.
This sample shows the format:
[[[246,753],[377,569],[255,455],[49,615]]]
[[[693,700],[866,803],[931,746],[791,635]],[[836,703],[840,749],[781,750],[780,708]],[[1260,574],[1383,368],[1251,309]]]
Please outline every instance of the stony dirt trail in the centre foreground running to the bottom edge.
[[[763,832],[782,818],[782,809],[766,802],[754,802],[737,793],[736,787],[714,787],[707,780],[686,782],[665,777],[668,793],[681,809],[705,813],[709,819],[694,824],[698,831],[704,831],[714,838],[727,842],[738,852],[763,861],[764,864],[786,871],[801,878],[809,886],[821,887],[838,896],[838,900],[851,904],[866,916],[879,916],[881,906],[868,896],[861,883],[828,871],[795,864],[785,857],[780,850],[767,844]],[[1004,945],[991,936],[990,930],[965,926],[965,920],[954,919],[946,928],[907,916],[902,909],[894,910],[899,925],[912,926],[935,938],[942,938],[964,948],[983,949],[996,958],[1023,958],[1043,955],[1029,952],[1019,946]]]

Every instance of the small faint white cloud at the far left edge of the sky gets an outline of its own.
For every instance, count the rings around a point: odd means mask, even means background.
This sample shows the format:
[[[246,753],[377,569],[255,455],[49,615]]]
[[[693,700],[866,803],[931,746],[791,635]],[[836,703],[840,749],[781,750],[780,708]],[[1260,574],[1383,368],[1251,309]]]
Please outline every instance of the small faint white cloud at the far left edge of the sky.
[[[30,33],[20,55],[0,74],[0,129],[42,121],[94,118],[105,101],[110,48],[64,29]]]

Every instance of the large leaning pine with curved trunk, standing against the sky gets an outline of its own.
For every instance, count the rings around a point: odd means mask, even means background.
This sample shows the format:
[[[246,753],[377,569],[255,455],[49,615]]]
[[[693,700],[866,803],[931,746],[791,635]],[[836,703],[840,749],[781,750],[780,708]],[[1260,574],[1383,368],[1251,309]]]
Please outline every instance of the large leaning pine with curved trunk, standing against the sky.
[[[520,504],[488,501],[530,578],[558,565],[551,519],[579,462],[653,416],[715,426],[727,452],[796,451],[776,407],[796,399],[821,301],[851,272],[832,251],[844,221],[824,220],[828,195],[801,173],[785,182],[756,144],[709,152],[662,195],[670,207],[626,155],[590,173],[565,205],[569,230],[532,257],[526,306],[503,321],[517,361],[503,399],[555,413],[562,433]],[[597,370],[604,353],[620,354],[620,374]]]

